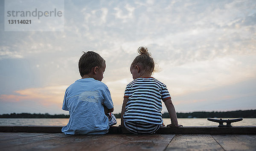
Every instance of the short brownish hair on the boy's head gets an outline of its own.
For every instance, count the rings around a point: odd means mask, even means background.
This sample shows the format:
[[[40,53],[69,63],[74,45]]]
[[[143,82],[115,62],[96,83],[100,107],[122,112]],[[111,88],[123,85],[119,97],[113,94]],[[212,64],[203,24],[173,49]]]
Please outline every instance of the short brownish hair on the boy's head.
[[[105,65],[105,60],[96,52],[93,51],[83,51],[83,55],[79,59],[78,68],[80,76],[90,73],[93,67],[103,67]]]

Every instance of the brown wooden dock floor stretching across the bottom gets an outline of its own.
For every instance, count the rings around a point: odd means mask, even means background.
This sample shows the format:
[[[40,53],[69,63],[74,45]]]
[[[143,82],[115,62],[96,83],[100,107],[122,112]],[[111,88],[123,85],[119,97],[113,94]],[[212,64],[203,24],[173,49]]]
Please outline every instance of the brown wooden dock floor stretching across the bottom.
[[[248,134],[105,134],[0,132],[0,151],[256,151]]]

